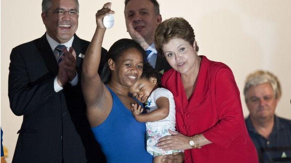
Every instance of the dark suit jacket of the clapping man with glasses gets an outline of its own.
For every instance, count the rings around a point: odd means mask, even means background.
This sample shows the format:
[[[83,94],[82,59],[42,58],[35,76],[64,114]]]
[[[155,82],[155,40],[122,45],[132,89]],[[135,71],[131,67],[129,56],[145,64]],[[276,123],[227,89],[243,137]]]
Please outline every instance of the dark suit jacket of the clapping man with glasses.
[[[75,35],[77,86],[55,92],[58,64],[46,35],[13,48],[8,96],[15,115],[23,115],[13,162],[105,162],[86,118],[81,67],[89,42]],[[102,54],[107,51],[102,49]]]

